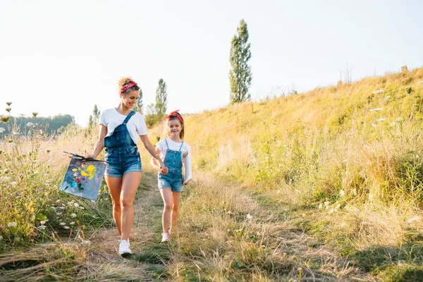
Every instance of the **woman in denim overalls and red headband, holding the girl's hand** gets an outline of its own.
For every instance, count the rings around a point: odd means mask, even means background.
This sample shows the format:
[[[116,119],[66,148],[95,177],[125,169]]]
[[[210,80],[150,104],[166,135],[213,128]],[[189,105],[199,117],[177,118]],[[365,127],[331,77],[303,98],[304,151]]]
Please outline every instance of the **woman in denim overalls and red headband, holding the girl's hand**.
[[[132,253],[129,233],[134,220],[135,193],[141,180],[138,136],[145,149],[159,161],[159,169],[164,172],[166,168],[148,139],[144,116],[132,110],[140,95],[140,87],[130,78],[121,79],[118,85],[121,102],[100,115],[99,139],[92,153],[85,157],[95,159],[106,147],[104,178],[111,195],[113,219],[121,235],[118,253],[124,257]]]

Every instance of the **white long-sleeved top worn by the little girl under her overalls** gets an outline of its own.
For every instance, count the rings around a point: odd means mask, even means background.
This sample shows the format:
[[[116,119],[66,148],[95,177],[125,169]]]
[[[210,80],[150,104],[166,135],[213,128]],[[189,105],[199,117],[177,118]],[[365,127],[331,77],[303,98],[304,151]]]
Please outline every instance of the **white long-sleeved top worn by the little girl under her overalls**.
[[[166,138],[166,141],[168,142],[169,149],[173,151],[179,151],[180,143],[172,141],[170,137]],[[157,149],[160,150],[160,158],[162,161],[164,161],[164,158],[166,157],[166,142],[164,140],[160,140],[156,144]],[[188,145],[187,142],[183,142],[182,148],[180,149],[180,156],[182,160],[182,166],[183,166],[183,184],[188,183],[189,180],[192,179],[192,163],[191,163],[191,147]]]

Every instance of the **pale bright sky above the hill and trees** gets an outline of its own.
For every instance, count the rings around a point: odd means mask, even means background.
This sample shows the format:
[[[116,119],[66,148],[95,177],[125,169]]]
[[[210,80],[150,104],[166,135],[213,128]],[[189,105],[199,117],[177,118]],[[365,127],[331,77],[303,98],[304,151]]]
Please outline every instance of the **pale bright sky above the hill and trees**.
[[[143,104],[160,78],[168,111],[229,104],[231,39],[247,23],[254,101],[423,66],[423,1],[0,0],[0,115],[119,104],[130,76]],[[1,106],[3,105],[3,106]],[[145,107],[146,108],[146,107]]]

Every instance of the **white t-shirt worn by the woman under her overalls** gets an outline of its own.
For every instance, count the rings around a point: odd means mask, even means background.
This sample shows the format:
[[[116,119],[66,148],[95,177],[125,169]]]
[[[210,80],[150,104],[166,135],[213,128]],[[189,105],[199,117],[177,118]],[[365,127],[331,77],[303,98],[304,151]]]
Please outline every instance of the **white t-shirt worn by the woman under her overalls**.
[[[126,116],[119,114],[115,108],[106,109],[100,114],[99,124],[107,126],[107,136],[113,133],[114,129],[125,121]],[[136,112],[133,116],[130,117],[128,123],[126,123],[126,128],[135,145],[138,142],[138,135],[147,135],[147,125],[145,125],[144,116]]]

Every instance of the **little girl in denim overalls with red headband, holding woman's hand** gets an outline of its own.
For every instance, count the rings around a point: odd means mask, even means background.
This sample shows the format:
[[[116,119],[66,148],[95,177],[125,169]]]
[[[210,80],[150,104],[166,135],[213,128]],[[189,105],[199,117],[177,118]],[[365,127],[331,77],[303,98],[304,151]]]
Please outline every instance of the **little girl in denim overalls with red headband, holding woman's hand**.
[[[152,158],[150,161],[159,171],[157,178],[164,203],[162,243],[170,240],[171,227],[178,219],[180,193],[183,191],[183,185],[192,178],[191,149],[190,145],[183,141],[185,130],[183,117],[177,110],[166,116],[165,120],[168,137],[156,144],[156,152],[161,156],[164,168],[160,171],[157,159]]]

